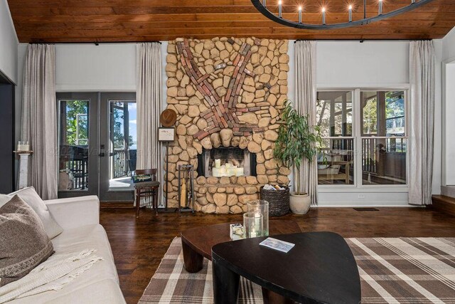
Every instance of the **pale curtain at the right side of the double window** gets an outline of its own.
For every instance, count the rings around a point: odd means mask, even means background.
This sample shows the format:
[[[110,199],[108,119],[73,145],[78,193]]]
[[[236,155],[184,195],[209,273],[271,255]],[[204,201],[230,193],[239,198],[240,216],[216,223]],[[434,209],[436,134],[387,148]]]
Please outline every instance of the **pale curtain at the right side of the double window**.
[[[433,41],[410,44],[410,177],[409,204],[432,204],[434,86]]]

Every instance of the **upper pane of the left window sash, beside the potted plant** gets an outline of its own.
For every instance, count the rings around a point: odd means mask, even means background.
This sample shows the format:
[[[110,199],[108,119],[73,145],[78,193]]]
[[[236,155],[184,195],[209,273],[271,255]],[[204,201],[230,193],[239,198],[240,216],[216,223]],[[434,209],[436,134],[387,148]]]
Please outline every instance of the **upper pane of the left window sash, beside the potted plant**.
[[[352,136],[353,93],[318,92],[316,122],[323,137]]]

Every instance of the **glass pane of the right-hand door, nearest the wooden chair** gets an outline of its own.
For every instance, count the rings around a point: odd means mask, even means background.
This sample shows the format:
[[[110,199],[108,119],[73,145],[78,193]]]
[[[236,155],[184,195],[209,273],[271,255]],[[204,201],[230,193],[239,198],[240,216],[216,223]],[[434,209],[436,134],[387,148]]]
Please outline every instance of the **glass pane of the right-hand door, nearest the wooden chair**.
[[[136,170],[137,113],[132,101],[110,102],[109,189],[132,190],[132,172]]]

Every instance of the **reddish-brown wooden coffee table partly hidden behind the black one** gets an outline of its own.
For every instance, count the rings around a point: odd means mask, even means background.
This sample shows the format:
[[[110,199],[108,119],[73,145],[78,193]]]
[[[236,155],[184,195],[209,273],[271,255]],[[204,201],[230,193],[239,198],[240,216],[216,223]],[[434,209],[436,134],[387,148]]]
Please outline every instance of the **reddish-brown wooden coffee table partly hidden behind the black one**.
[[[230,241],[229,225],[233,223],[215,224],[187,229],[181,233],[183,261],[185,270],[196,273],[203,268],[203,258],[212,260],[212,247],[218,243]],[[292,234],[301,232],[295,221],[269,221],[269,235]]]

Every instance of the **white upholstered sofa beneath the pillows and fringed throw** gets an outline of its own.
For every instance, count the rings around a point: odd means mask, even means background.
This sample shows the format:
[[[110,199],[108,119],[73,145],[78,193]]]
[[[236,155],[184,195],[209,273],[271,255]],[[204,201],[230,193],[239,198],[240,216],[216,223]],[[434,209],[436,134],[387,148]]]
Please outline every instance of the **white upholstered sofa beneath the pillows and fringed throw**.
[[[54,254],[80,253],[94,248],[104,261],[95,263],[61,290],[46,291],[9,303],[125,303],[111,246],[105,229],[100,225],[97,196],[53,199],[45,204],[63,228],[63,233],[52,239]]]

